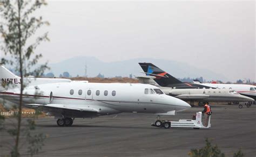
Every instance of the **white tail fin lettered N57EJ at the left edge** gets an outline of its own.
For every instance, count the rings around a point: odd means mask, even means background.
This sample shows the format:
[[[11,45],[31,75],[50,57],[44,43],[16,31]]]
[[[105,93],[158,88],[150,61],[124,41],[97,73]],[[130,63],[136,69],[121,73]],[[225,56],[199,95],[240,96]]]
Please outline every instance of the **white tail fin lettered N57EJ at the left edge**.
[[[16,85],[21,84],[21,77],[10,72],[10,70],[6,69],[1,64],[0,64],[0,80],[1,80],[0,90],[4,90],[6,88],[6,85],[8,84],[16,84]]]

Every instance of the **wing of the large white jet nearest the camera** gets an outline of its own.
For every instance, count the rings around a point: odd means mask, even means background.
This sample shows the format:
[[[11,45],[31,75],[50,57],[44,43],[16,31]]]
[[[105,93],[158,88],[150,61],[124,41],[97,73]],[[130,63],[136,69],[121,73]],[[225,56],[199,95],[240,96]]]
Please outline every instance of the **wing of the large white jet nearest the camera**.
[[[72,117],[72,115],[76,115],[79,117],[91,117],[91,116],[97,116],[98,110],[93,108],[86,108],[78,105],[78,107],[75,107],[75,105],[64,105],[64,104],[25,104],[26,107],[32,108],[32,109],[39,109],[43,112],[51,112],[53,115],[61,115],[62,113],[65,113],[65,115],[69,115]]]

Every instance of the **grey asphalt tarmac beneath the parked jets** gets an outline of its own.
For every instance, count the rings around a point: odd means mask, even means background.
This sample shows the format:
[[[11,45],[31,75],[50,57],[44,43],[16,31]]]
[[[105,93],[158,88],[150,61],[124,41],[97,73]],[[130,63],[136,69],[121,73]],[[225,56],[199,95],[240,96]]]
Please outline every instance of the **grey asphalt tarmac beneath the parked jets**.
[[[191,119],[202,110],[191,108],[163,119]],[[212,144],[217,144],[226,156],[233,156],[239,148],[245,156],[256,156],[256,105],[242,109],[237,105],[212,105],[212,111],[212,127],[208,130],[152,127],[156,116],[138,113],[75,119],[72,127],[58,127],[53,117],[39,118],[36,132],[48,138],[35,156],[188,156],[190,149],[205,146],[205,138],[213,139]],[[11,121],[6,119],[5,125],[11,125]],[[8,154],[5,144],[12,141],[1,132],[4,147],[0,147],[0,156]]]

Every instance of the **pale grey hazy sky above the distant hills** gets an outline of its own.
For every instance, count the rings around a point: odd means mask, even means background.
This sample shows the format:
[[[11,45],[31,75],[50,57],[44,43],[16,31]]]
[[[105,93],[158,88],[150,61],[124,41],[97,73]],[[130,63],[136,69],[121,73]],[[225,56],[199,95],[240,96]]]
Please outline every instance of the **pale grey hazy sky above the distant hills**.
[[[255,1],[48,1],[40,14],[43,61],[158,58],[255,81]]]

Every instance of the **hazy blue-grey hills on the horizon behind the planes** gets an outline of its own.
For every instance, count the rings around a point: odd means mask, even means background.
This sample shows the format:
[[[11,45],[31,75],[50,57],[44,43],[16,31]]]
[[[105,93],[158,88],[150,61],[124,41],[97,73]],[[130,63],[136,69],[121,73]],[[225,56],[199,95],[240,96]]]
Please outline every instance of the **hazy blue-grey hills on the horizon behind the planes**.
[[[49,64],[52,72],[55,76],[59,76],[63,72],[69,72],[72,77],[85,75],[85,63],[87,65],[87,76],[95,77],[99,73],[105,77],[123,76],[129,77],[130,74],[140,76],[144,75],[143,70],[140,68],[138,62],[152,62],[154,65],[165,70],[174,77],[191,77],[196,78],[203,76],[206,80],[223,80],[227,81],[224,75],[213,73],[208,69],[199,69],[192,67],[186,63],[177,61],[163,60],[163,59],[149,59],[139,58],[117,62],[103,62],[95,57],[90,56],[77,56],[62,62]]]

